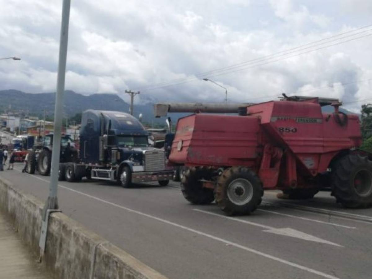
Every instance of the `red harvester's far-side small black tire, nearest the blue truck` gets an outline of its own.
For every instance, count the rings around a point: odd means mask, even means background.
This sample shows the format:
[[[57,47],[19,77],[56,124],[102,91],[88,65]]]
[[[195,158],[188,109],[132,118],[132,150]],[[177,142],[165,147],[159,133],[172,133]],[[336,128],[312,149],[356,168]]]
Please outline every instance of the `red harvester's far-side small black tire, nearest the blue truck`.
[[[193,204],[208,204],[214,201],[213,189],[204,188],[199,179],[209,180],[210,171],[206,167],[192,167],[185,171],[181,180],[182,195]]]

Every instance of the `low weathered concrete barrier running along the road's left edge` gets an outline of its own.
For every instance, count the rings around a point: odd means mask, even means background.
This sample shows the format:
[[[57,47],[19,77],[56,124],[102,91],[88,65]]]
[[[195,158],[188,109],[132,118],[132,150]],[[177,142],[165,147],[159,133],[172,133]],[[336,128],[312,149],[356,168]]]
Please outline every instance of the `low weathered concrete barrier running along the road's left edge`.
[[[14,222],[22,240],[39,256],[44,203],[0,177],[0,210]],[[49,217],[43,264],[54,278],[165,279],[104,238],[62,213]]]

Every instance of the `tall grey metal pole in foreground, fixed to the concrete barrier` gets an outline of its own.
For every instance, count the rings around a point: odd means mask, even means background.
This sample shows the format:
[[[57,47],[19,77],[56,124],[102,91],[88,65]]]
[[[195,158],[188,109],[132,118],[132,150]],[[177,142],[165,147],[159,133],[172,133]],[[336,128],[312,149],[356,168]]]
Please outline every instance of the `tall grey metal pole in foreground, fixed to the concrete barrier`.
[[[60,167],[61,129],[62,129],[62,117],[63,117],[62,109],[63,109],[63,94],[65,90],[68,22],[70,19],[70,2],[71,0],[63,0],[63,4],[62,4],[60,52],[59,52],[59,57],[58,57],[58,74],[57,74],[57,92],[55,94],[55,110],[54,110],[52,166],[51,166],[51,178],[50,178],[50,183],[49,183],[49,196],[44,205],[44,214],[43,214],[44,221],[45,221],[45,217],[46,217],[48,209],[49,210],[58,209],[57,184],[58,184],[58,171]]]

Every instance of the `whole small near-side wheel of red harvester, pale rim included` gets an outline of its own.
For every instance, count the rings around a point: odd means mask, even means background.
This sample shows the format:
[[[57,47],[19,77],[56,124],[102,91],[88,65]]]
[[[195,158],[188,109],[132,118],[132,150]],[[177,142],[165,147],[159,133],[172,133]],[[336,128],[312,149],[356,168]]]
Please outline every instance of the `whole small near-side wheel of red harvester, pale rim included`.
[[[262,201],[262,182],[246,167],[224,170],[215,189],[217,205],[228,215],[250,214]]]

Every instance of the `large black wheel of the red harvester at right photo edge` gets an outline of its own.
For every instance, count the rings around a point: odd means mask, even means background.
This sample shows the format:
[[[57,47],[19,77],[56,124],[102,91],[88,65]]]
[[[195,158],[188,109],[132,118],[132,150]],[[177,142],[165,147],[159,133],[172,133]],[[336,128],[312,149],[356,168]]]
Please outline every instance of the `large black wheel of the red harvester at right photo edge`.
[[[332,171],[332,195],[346,208],[372,206],[372,161],[367,156],[349,154]]]

